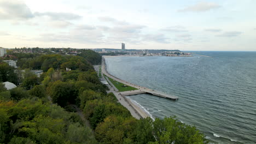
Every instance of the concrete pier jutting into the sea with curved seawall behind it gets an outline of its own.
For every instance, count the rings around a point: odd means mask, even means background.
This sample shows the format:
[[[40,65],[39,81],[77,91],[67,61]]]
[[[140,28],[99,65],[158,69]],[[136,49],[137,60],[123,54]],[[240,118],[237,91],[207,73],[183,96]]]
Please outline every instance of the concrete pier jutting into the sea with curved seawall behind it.
[[[135,85],[133,83],[121,80],[121,79],[109,74],[106,70],[106,63],[105,63],[104,57],[102,58],[102,66],[101,67],[102,67],[102,71],[101,71],[102,74],[110,77],[111,79],[113,79],[115,81],[118,81],[120,83],[124,83],[124,85],[137,88],[136,90],[133,90],[133,91],[119,92],[119,94],[121,94],[123,96],[147,93],[147,94],[156,95],[156,96],[162,97],[162,98],[167,98],[167,99],[171,99],[171,100],[178,100],[178,97],[176,97],[174,95],[170,95],[170,94],[162,93],[162,92],[159,92],[159,91],[155,91],[154,89],[150,89],[150,88],[146,88],[146,87],[141,87],[141,86]]]

